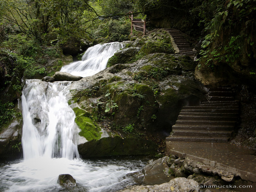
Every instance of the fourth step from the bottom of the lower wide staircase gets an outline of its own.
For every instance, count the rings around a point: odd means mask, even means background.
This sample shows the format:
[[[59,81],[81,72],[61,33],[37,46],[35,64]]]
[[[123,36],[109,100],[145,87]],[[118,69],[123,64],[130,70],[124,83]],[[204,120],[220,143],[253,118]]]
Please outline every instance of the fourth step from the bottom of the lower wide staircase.
[[[185,124],[185,125],[228,125],[235,126],[236,121],[208,121],[208,120],[177,120],[176,124]]]

